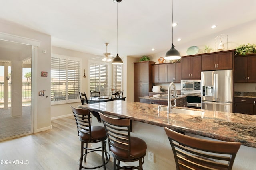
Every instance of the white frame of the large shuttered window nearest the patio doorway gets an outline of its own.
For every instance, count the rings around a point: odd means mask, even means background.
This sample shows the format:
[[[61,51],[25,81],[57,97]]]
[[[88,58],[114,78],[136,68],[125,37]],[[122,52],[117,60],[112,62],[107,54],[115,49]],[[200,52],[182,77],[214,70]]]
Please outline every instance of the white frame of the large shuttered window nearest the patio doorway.
[[[54,54],[52,53],[51,55],[51,65],[52,65],[52,57],[55,58],[60,58],[60,59],[65,59],[66,60],[66,99],[65,100],[58,100],[58,101],[51,101],[51,105],[56,105],[56,104],[67,104],[67,103],[74,103],[74,102],[80,102],[80,97],[78,96],[77,99],[68,99],[68,60],[72,61],[78,61],[79,62],[79,89],[78,91],[81,91],[81,85],[82,85],[82,59],[78,57],[72,57],[72,56],[66,56],[66,55],[59,55],[59,54]],[[52,71],[52,66],[51,66],[51,71]],[[51,75],[51,85],[52,85],[52,75]],[[51,96],[52,96],[52,88],[51,88]],[[50,96],[50,97],[51,97]]]

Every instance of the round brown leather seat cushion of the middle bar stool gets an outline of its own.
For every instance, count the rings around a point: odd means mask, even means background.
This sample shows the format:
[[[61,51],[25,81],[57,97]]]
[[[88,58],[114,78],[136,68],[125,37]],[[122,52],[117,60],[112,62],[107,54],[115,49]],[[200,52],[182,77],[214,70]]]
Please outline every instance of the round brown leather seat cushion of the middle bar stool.
[[[125,137],[126,138],[126,137]],[[120,148],[124,148],[124,146],[119,146]],[[110,147],[110,150],[116,156],[126,160],[129,156],[127,155],[127,150],[119,149],[116,147]],[[145,141],[138,137],[131,137],[131,159],[138,159],[142,156],[144,157],[147,152],[147,144]]]

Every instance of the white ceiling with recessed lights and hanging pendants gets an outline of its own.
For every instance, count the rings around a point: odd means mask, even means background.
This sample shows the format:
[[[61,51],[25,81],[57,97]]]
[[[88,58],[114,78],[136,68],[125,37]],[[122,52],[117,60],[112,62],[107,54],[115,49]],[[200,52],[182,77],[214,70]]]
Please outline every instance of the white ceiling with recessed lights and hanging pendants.
[[[256,0],[173,0],[174,45],[256,21],[255,9]],[[118,10],[121,56],[170,49],[171,0],[122,0]],[[53,46],[102,55],[108,42],[108,52],[117,53],[113,0],[1,0],[0,18],[51,35]]]

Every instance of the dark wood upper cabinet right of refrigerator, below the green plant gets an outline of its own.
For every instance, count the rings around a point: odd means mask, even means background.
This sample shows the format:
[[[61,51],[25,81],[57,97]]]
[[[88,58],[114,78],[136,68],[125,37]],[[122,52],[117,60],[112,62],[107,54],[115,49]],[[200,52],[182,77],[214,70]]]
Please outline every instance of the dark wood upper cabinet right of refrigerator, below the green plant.
[[[235,83],[256,82],[256,54],[235,56]]]

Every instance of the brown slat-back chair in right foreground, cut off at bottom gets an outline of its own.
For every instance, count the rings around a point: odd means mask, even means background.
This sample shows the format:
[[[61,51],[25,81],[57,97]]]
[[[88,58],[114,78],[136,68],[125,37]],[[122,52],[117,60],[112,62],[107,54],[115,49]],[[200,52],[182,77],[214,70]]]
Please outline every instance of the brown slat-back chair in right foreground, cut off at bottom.
[[[231,170],[240,142],[210,141],[164,127],[177,170]]]

